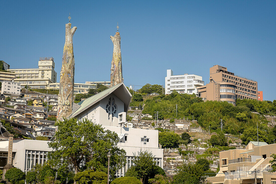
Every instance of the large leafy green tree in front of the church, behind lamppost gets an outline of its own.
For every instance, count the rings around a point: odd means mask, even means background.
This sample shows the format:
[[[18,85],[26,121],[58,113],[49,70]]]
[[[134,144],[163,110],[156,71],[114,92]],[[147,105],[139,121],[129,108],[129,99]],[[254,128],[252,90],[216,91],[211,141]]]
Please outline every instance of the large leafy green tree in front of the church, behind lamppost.
[[[49,147],[53,148],[49,154],[49,163],[56,166],[73,165],[75,174],[84,168],[94,171],[107,172],[108,151],[110,157],[110,174],[115,178],[118,169],[125,165],[125,154],[123,149],[117,146],[118,134],[110,130],[104,130],[101,125],[92,121],[82,119],[64,119],[55,123],[55,141],[49,142]]]

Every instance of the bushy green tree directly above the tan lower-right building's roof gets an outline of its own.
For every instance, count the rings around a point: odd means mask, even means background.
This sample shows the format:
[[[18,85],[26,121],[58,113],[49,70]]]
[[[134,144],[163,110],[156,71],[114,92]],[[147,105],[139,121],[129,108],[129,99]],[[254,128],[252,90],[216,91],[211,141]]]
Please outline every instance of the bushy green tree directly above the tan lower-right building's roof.
[[[258,130],[257,135],[257,128],[249,127],[246,128],[246,130],[243,132],[243,134],[240,136],[242,143],[247,145],[250,141],[257,141],[259,136],[259,142],[267,142],[269,143],[270,140],[267,137],[267,133],[263,130]]]

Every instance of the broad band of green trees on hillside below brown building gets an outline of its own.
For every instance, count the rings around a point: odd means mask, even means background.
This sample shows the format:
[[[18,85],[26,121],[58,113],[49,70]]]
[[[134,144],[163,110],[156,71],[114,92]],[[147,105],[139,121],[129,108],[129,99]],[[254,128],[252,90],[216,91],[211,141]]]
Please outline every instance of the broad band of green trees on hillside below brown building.
[[[268,126],[269,121],[262,114],[276,114],[276,100],[257,101],[249,99],[237,99],[237,106],[233,106],[228,102],[206,101],[195,94],[179,94],[176,91],[169,95],[158,95],[142,102],[144,103],[143,114],[154,115],[158,111],[159,119],[195,119],[198,124],[209,129],[211,132],[229,133],[232,135],[241,135],[243,143],[257,140],[257,123],[259,128],[259,141],[273,143],[275,134],[271,127]],[[176,116],[177,104],[177,116]],[[260,114],[254,114],[258,112]],[[246,136],[245,136],[246,135]]]

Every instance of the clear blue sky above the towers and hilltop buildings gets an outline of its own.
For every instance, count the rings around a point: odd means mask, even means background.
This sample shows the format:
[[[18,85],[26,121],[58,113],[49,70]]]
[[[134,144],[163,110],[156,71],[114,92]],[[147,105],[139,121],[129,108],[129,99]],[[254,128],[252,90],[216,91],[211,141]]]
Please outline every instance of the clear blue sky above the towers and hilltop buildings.
[[[264,99],[275,99],[276,1],[1,1],[0,7],[0,60],[11,68],[53,57],[60,73],[70,12],[78,27],[75,82],[110,80],[109,36],[119,22],[125,85],[164,85],[166,69],[201,75],[206,84],[218,64],[256,80]]]

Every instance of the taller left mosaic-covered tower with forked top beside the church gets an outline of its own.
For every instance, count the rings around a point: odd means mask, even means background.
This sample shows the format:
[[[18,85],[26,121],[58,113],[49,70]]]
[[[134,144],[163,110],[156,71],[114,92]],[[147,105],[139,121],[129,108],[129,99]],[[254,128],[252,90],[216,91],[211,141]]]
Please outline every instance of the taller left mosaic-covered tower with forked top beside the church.
[[[62,67],[60,71],[60,86],[58,95],[57,120],[67,118],[73,109],[75,59],[73,53],[73,35],[77,27],[71,29],[69,23],[65,24],[65,44],[63,48]]]

